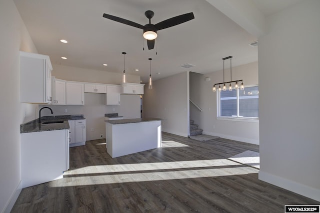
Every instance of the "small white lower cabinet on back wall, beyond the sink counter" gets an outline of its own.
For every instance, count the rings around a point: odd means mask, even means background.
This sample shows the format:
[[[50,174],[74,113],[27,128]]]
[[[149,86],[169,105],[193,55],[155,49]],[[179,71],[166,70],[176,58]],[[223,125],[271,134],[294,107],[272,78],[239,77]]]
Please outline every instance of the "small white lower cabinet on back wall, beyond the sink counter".
[[[69,143],[70,147],[85,145],[85,119],[83,120],[68,120]]]

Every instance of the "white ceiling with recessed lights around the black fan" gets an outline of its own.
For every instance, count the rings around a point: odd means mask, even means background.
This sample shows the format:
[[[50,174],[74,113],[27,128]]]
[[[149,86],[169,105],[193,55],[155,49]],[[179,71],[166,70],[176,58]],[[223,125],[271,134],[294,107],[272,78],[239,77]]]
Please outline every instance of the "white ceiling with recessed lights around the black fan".
[[[299,0],[245,0],[263,15]],[[183,71],[208,73],[222,69],[222,58],[233,56],[232,66],[257,61],[257,40],[206,0],[14,0],[27,30],[41,54],[53,64],[140,75],[147,82],[149,60],[154,80]],[[282,3],[281,3],[282,2]],[[148,50],[142,30],[102,17],[103,13],[139,24],[154,11],[151,23],[187,12],[194,19],[158,31],[155,48]],[[68,40],[67,44],[60,39]],[[142,50],[144,45],[144,50]],[[157,54],[156,54],[157,52]],[[60,57],[65,56],[63,60]],[[103,66],[106,63],[108,66]],[[186,63],[194,67],[185,69]],[[134,71],[139,69],[139,71]],[[160,74],[156,74],[160,73]]]

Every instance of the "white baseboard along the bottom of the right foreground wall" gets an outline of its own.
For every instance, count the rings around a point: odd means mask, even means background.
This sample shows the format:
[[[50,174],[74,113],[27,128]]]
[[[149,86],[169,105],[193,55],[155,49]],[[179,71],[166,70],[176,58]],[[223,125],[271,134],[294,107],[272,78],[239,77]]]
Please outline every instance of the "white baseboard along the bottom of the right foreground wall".
[[[299,184],[269,173],[259,171],[258,179],[320,202],[320,190]]]

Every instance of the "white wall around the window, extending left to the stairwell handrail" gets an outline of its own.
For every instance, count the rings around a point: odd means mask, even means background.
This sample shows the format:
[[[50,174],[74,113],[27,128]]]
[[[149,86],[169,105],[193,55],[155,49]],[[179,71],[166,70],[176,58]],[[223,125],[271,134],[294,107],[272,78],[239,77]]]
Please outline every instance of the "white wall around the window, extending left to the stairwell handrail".
[[[236,58],[233,58],[236,60]],[[223,61],[221,60],[221,66]],[[243,79],[245,85],[258,84],[257,62],[232,67],[232,80]],[[224,80],[230,80],[230,69],[225,64]],[[209,77],[210,81],[204,81]],[[190,119],[203,129],[203,134],[218,136],[246,143],[259,144],[259,124],[250,121],[218,120],[216,92],[212,92],[214,83],[223,82],[223,70],[205,75],[190,72],[190,99],[195,102],[203,112],[200,112],[190,103]]]

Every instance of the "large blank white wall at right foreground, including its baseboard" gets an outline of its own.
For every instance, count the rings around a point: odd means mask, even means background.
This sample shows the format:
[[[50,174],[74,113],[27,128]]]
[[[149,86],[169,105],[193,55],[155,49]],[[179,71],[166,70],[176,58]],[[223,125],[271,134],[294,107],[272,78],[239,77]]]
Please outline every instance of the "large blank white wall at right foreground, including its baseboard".
[[[259,179],[320,201],[320,1],[267,18],[259,38]]]

